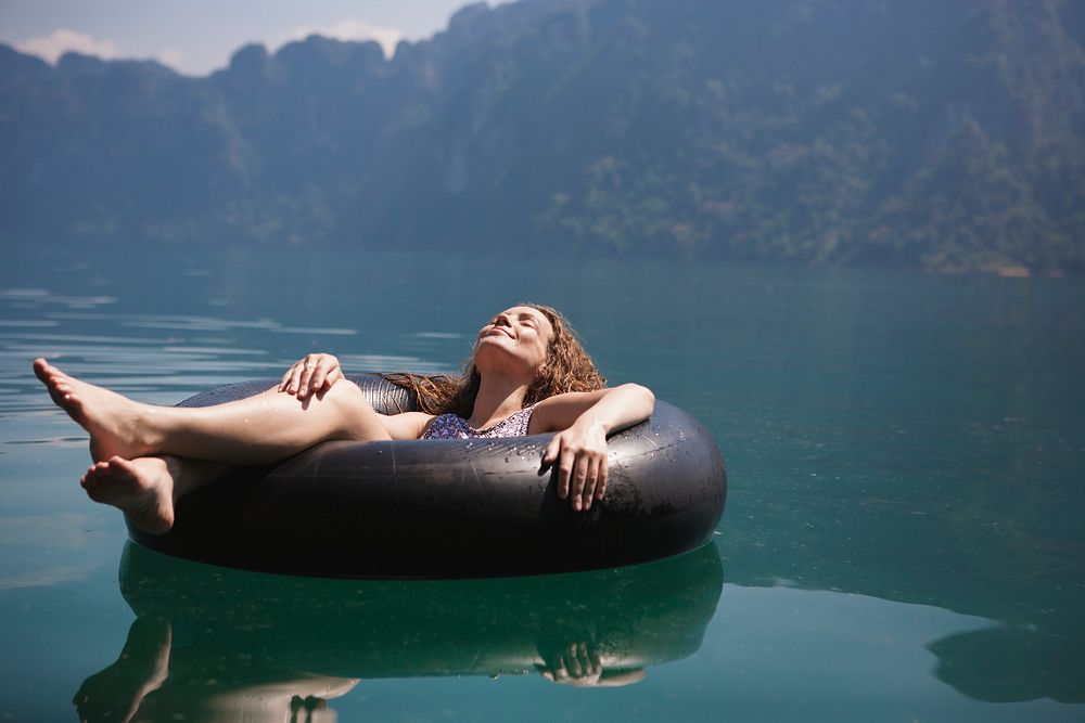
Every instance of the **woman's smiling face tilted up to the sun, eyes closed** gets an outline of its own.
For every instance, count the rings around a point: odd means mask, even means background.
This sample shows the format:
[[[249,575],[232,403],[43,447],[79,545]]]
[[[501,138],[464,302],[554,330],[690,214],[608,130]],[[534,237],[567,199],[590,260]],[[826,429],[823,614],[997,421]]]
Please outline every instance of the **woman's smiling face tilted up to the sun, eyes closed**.
[[[506,309],[478,331],[475,369],[480,373],[505,369],[534,377],[546,362],[552,338],[553,327],[538,309]]]

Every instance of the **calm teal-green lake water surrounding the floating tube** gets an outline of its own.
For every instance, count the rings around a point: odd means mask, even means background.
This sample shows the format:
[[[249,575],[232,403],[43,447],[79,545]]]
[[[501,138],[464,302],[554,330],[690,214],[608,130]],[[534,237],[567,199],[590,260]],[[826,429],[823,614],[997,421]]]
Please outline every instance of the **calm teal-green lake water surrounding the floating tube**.
[[[74,698],[111,721],[1085,718],[1078,280],[545,249],[10,254],[0,721],[73,720]],[[519,300],[561,308],[612,383],[713,434],[730,487],[710,545],[423,582],[163,557],[86,499],[86,437],[29,372],[47,356],[164,404],[311,350],[447,372]],[[595,663],[605,685],[545,674]]]

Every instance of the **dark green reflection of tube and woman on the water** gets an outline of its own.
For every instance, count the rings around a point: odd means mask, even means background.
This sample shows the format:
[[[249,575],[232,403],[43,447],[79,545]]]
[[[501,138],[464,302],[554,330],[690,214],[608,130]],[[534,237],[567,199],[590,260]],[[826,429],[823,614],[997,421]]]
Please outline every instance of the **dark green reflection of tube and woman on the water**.
[[[640,681],[694,654],[723,586],[715,545],[602,572],[469,581],[336,581],[241,572],[129,542],[138,619],[75,696],[84,720],[281,721],[361,679],[540,674]]]

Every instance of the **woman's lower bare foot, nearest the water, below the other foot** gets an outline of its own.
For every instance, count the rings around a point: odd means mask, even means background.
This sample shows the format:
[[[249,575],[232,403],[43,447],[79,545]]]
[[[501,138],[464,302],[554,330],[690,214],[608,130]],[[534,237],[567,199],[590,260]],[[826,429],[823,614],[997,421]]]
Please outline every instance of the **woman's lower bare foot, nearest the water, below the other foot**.
[[[163,457],[113,456],[92,465],[79,483],[94,502],[113,505],[151,534],[174,526],[174,483],[178,469]]]

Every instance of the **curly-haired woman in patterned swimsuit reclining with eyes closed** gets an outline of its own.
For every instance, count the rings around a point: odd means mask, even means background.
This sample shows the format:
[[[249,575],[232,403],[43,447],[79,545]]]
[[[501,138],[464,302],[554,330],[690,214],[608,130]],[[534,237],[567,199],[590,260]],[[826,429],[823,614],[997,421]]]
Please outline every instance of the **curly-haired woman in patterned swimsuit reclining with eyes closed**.
[[[518,306],[482,327],[456,383],[398,375],[422,412],[384,415],[343,378],[330,354],[309,354],[261,395],[205,408],[132,401],[34,361],[53,401],[90,434],[94,463],[80,480],[90,499],[161,534],[174,505],[232,467],[272,464],[329,440],[557,432],[542,454],[557,463],[558,496],[588,509],[607,490],[607,435],[647,419],[644,387],[603,388],[591,359],[556,310]]]

